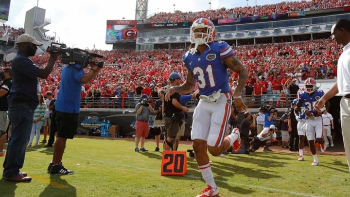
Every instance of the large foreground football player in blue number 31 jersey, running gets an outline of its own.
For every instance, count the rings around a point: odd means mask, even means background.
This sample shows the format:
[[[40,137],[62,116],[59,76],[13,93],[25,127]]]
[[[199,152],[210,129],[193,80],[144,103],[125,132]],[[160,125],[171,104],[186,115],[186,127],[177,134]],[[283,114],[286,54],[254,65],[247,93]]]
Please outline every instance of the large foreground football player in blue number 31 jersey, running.
[[[232,48],[224,41],[214,42],[215,26],[207,18],[196,19],[190,28],[190,50],[183,55],[187,69],[185,83],[169,88],[165,100],[175,92],[191,92],[196,83],[199,88],[199,102],[193,112],[191,138],[198,167],[207,187],[197,197],[216,197],[219,194],[207,150],[218,156],[233,144],[238,151],[241,140],[238,129],[225,137],[231,113],[232,99],[239,111],[246,110],[241,93],[245,88],[248,72],[234,57]],[[233,96],[230,95],[227,69],[239,74]]]

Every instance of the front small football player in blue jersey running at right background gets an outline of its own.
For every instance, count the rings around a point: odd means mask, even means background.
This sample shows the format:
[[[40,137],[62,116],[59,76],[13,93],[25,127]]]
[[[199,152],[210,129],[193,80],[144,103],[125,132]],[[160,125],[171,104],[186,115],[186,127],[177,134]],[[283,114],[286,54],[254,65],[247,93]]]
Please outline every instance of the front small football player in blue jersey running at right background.
[[[315,102],[324,95],[323,90],[316,90],[316,81],[314,78],[307,78],[304,83],[304,89],[298,91],[298,102],[295,110],[305,113],[305,123],[301,126],[306,130],[306,137],[310,144],[310,151],[313,154],[314,162],[312,165],[318,165],[318,157],[316,154],[315,142],[320,144],[321,151],[325,151],[324,139],[323,139],[323,124],[322,124],[322,111],[330,106],[329,102],[326,102],[326,107],[316,109],[314,107]],[[315,139],[316,135],[316,139]],[[300,139],[300,143],[302,139]],[[300,145],[299,145],[300,149]]]

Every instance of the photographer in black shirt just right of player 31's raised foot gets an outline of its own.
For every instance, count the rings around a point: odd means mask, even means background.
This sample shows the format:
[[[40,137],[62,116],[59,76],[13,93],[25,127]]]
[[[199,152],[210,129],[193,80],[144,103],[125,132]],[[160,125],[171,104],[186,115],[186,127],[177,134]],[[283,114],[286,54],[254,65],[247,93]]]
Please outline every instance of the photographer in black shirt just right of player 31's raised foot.
[[[244,118],[240,125],[240,135],[241,135],[241,143],[242,143],[241,149],[238,152],[232,152],[232,153],[249,154],[249,130],[251,128],[255,128],[255,121],[257,116],[258,116],[257,114],[251,114],[249,111],[245,112]]]

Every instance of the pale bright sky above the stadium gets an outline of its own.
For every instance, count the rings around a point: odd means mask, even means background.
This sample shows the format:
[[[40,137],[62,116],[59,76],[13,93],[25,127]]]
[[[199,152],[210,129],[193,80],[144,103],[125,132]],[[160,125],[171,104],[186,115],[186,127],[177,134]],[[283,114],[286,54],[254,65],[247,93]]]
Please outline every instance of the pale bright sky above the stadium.
[[[201,11],[222,7],[254,6],[256,3],[274,4],[282,0],[148,0],[148,15],[156,12],[173,12],[180,10]],[[209,2],[211,2],[209,4]],[[5,24],[12,27],[23,27],[25,13],[36,6],[46,9],[46,18],[51,24],[45,29],[47,35],[60,37],[67,46],[111,50],[105,44],[106,20],[122,18],[135,19],[136,0],[11,0],[9,20]],[[174,6],[175,4],[175,6]]]

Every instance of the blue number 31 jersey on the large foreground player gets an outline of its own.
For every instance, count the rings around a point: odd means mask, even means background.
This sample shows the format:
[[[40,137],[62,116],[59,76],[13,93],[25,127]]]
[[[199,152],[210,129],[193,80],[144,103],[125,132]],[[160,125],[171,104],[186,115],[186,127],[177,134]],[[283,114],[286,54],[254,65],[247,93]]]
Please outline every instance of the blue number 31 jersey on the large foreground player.
[[[223,61],[234,53],[225,41],[217,41],[209,44],[202,54],[191,54],[189,51],[182,56],[187,69],[193,72],[198,83],[201,95],[210,95],[221,90],[229,92],[227,66]]]

